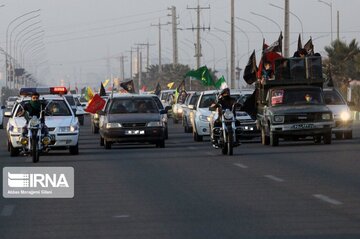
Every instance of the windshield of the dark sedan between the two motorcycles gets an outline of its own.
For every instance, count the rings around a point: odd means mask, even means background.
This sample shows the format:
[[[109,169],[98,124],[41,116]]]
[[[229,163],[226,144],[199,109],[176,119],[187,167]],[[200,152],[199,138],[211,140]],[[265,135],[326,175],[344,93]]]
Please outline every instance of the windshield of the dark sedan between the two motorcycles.
[[[152,98],[114,99],[110,105],[109,113],[159,113],[159,109]]]

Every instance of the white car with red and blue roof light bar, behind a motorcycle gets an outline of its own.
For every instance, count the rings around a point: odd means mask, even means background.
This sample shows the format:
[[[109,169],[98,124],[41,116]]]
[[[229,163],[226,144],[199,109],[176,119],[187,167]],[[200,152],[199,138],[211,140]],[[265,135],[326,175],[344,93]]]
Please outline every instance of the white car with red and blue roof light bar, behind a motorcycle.
[[[45,113],[45,125],[48,127],[51,138],[49,149],[68,149],[70,154],[78,154],[79,121],[68,102],[60,95],[41,94],[40,99],[44,99],[48,104]],[[10,156],[17,156],[23,148],[20,143],[20,138],[26,120],[22,114],[22,106],[29,100],[30,97],[23,97],[21,101],[14,106],[12,111],[5,113],[5,116],[9,117],[6,131]],[[50,111],[52,106],[57,106],[58,111],[56,113]]]

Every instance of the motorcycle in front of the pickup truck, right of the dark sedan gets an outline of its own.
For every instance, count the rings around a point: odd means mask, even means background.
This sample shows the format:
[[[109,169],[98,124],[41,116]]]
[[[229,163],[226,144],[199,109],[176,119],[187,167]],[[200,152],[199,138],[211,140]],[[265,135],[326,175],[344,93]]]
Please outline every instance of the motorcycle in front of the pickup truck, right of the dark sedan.
[[[232,106],[232,109],[223,109],[221,104],[216,103],[215,107],[210,106],[210,111],[215,111],[218,109],[218,112],[221,117],[218,117],[217,120],[221,119],[221,124],[216,123],[216,117],[210,122],[210,136],[212,139],[213,146],[215,148],[221,148],[223,155],[233,155],[233,148],[241,145],[240,143],[240,121],[236,120],[236,110],[241,108],[241,104],[235,102]],[[214,115],[213,115],[214,116]],[[212,127],[211,127],[212,126]]]

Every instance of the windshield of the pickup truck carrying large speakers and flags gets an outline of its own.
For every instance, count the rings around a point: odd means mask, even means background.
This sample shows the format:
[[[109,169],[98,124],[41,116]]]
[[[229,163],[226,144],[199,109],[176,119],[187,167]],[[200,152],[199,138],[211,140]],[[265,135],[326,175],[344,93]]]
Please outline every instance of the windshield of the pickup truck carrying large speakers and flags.
[[[272,106],[323,104],[320,89],[276,89],[269,93]]]

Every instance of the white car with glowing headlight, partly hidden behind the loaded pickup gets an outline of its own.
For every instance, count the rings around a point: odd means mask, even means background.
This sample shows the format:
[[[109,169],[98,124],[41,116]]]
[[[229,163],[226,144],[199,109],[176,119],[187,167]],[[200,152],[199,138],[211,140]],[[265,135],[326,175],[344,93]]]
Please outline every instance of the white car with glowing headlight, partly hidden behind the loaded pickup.
[[[345,99],[334,88],[324,88],[323,92],[325,104],[334,116],[335,127],[332,128],[332,133],[336,139],[352,139],[353,119]]]

